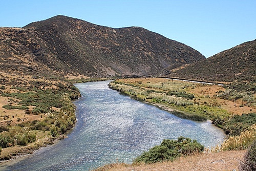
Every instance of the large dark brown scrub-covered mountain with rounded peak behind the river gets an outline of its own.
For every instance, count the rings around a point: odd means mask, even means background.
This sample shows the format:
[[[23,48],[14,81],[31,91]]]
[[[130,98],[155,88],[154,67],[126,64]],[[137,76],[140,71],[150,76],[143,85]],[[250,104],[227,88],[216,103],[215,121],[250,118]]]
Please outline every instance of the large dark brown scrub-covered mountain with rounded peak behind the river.
[[[140,27],[110,28],[58,15],[0,28],[0,71],[89,77],[153,76],[205,57]]]

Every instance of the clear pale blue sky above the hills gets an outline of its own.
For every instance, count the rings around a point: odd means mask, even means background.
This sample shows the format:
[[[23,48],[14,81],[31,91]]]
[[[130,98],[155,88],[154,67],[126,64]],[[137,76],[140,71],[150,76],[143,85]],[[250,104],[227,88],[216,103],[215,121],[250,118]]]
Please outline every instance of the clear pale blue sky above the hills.
[[[256,39],[256,0],[1,0],[0,27],[66,15],[113,28],[138,26],[205,57]]]

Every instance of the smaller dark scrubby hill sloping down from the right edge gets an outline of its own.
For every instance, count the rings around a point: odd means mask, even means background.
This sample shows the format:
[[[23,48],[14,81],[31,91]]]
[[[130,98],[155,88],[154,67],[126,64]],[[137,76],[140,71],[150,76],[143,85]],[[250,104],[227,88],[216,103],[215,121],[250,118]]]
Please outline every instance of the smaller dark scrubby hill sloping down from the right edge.
[[[256,81],[256,39],[179,69],[165,76],[202,81]]]

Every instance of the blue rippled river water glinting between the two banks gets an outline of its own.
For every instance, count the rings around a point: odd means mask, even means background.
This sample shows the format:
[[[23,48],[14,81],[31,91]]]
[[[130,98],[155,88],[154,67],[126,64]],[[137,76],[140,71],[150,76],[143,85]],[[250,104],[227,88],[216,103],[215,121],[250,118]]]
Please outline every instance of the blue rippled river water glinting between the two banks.
[[[78,83],[82,98],[78,122],[68,138],[33,155],[0,165],[1,170],[89,170],[113,162],[132,163],[163,139],[197,139],[204,146],[223,142],[222,130],[209,121],[178,118],[108,88],[109,81]]]

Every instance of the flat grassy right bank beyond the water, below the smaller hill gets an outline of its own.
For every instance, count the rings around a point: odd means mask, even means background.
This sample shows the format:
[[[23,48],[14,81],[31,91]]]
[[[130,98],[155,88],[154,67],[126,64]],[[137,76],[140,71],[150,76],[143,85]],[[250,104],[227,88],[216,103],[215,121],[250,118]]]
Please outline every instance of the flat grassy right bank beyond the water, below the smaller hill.
[[[109,86],[179,117],[212,120],[213,124],[232,137],[225,142],[228,147],[223,147],[223,150],[231,150],[245,149],[256,137],[253,129],[256,124],[255,83],[245,84],[243,87],[241,83],[234,82],[222,87],[164,78],[140,78],[117,79]],[[239,142],[238,139],[246,141],[240,144],[241,148],[232,145]]]

